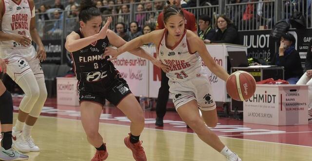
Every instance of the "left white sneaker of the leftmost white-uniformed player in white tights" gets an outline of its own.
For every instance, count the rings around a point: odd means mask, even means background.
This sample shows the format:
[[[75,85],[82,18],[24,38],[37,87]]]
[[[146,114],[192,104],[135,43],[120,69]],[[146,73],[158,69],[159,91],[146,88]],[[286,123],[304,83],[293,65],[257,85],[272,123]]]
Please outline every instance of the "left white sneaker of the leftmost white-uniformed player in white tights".
[[[28,145],[28,142],[24,140],[23,133],[21,131],[15,131],[15,127],[12,129],[12,142],[13,147],[22,152],[27,153],[30,152],[30,147]]]

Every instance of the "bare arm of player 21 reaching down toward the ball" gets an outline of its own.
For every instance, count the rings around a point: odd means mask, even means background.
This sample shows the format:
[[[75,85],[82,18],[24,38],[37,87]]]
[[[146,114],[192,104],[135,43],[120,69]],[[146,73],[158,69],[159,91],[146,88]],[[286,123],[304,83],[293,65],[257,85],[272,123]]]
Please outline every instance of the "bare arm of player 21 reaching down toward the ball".
[[[229,77],[229,74],[223,69],[222,66],[215,63],[214,59],[211,57],[207,51],[206,45],[202,40],[199,39],[192,31],[187,32],[187,39],[190,43],[191,52],[198,52],[206,66],[211,72],[213,72],[217,77],[226,81]]]

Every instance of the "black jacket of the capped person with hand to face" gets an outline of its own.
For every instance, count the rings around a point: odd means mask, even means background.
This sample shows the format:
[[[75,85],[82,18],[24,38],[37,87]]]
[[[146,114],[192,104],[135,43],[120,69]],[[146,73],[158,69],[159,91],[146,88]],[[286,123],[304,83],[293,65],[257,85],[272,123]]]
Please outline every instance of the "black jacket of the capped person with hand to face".
[[[276,57],[279,53],[276,53],[271,60],[272,65],[276,65],[277,60]],[[301,59],[299,52],[297,50],[293,50],[291,54],[287,56],[279,56],[279,64],[278,66],[284,66],[284,80],[288,80],[289,78],[300,78],[303,75],[303,69],[301,66]]]

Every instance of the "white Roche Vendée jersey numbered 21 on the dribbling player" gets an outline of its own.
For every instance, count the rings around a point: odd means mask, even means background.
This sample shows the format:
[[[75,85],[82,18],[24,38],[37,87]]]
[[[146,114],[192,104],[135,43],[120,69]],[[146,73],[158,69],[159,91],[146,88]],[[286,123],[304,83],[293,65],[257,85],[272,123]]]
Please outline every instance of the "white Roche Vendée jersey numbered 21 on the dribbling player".
[[[202,62],[197,52],[191,53],[184,30],[181,40],[173,47],[166,46],[167,29],[158,45],[158,56],[162,63],[170,67],[170,72],[166,73],[169,80],[186,81],[195,78],[202,71]]]

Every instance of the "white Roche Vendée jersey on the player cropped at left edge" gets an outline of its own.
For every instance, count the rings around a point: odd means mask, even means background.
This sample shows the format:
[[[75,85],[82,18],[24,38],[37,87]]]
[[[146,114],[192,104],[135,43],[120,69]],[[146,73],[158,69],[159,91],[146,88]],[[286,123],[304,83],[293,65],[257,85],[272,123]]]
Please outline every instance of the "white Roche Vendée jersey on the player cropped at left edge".
[[[3,0],[4,8],[2,12],[2,31],[7,34],[25,35],[31,39],[29,28],[32,18],[32,11],[28,0],[21,0],[20,4],[13,0]],[[20,43],[13,40],[0,41],[0,45],[11,46],[12,48],[29,48],[22,46]],[[7,47],[6,46],[6,47]],[[5,47],[3,47],[5,48]]]

